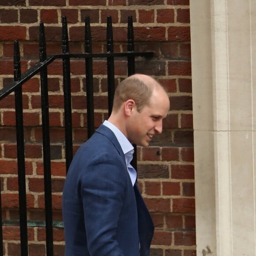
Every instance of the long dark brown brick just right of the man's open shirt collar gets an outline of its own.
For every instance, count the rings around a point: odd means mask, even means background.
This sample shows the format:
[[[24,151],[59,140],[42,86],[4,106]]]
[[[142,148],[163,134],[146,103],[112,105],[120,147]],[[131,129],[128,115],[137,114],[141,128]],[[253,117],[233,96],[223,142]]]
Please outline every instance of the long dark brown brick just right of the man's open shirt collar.
[[[166,165],[138,165],[139,179],[169,178],[169,169]]]

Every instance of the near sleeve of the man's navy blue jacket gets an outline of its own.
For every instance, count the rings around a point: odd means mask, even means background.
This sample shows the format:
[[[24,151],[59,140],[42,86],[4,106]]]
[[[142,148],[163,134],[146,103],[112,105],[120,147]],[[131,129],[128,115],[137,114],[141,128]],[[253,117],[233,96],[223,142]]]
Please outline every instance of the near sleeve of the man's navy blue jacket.
[[[117,242],[117,222],[125,190],[125,164],[120,155],[102,153],[81,176],[87,245],[91,256],[123,256]]]

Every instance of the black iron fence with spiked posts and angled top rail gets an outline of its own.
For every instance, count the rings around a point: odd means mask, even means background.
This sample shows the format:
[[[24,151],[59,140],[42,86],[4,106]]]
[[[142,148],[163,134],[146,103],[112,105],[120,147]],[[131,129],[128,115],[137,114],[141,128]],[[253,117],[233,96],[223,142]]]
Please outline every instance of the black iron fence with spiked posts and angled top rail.
[[[28,255],[27,235],[27,208],[26,208],[26,176],[25,176],[25,153],[24,153],[24,129],[23,129],[23,97],[22,85],[34,75],[40,73],[41,84],[41,116],[43,137],[43,166],[44,166],[44,188],[45,188],[45,231],[46,231],[46,255],[53,256],[53,214],[52,214],[52,187],[51,187],[51,158],[49,138],[49,103],[48,103],[48,74],[47,66],[56,59],[62,59],[63,66],[63,91],[64,91],[64,128],[65,128],[65,158],[66,169],[73,158],[72,139],[72,102],[71,102],[71,58],[85,60],[85,79],[87,93],[87,132],[88,138],[94,133],[94,84],[93,84],[93,60],[104,58],[107,64],[108,83],[108,112],[111,113],[114,95],[114,60],[116,58],[127,58],[128,75],[135,73],[135,57],[152,57],[153,52],[135,52],[132,16],[128,17],[127,52],[113,52],[113,29],[111,16],[107,19],[106,28],[106,53],[92,53],[92,39],[90,32],[90,19],[85,17],[85,53],[72,54],[69,52],[68,25],[66,17],[62,17],[62,54],[47,56],[44,24],[39,27],[39,52],[40,61],[34,67],[21,74],[19,42],[14,43],[14,79],[0,90],[0,100],[14,92],[15,94],[15,117],[16,117],[16,143],[17,143],[17,165],[19,184],[19,227],[20,227],[20,250],[21,256]],[[136,167],[136,157],[133,160]],[[1,196],[0,196],[1,203]],[[4,255],[3,248],[3,221],[0,211],[0,256]]]

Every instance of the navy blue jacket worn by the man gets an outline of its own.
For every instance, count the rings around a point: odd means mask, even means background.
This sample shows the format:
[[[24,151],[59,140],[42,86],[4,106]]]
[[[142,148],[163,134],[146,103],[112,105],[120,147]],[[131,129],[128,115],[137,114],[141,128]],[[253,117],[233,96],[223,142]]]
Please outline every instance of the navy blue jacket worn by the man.
[[[65,256],[149,256],[151,216],[116,136],[104,125],[72,160],[62,211]]]

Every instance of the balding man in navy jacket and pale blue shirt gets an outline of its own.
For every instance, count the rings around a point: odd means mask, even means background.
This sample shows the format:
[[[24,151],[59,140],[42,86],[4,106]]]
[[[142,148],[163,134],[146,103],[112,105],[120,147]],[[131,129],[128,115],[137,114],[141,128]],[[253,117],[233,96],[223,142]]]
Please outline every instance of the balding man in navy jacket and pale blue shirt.
[[[162,132],[169,98],[147,75],[117,87],[108,120],[72,160],[63,190],[65,256],[149,256],[154,225],[131,166],[133,147]]]

